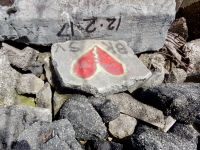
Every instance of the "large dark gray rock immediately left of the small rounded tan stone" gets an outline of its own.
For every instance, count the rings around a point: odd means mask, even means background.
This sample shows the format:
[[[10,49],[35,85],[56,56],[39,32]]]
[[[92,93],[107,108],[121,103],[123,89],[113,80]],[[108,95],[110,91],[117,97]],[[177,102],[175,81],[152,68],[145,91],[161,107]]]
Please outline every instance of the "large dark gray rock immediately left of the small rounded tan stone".
[[[77,139],[99,140],[107,136],[101,117],[85,96],[74,95],[67,100],[59,115],[61,119],[67,118],[71,122]]]

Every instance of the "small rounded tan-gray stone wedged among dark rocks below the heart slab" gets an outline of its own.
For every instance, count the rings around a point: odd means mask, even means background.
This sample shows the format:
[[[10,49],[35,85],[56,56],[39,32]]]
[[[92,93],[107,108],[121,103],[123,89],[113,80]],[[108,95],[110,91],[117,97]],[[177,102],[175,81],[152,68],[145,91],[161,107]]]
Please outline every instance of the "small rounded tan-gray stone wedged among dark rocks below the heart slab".
[[[135,118],[120,114],[117,119],[109,122],[109,131],[114,137],[123,139],[133,134],[136,125]]]

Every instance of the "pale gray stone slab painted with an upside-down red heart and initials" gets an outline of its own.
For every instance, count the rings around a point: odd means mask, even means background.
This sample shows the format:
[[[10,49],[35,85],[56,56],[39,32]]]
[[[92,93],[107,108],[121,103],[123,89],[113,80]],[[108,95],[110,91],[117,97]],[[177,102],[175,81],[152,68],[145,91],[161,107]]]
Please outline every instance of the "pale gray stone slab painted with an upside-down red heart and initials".
[[[67,41],[51,52],[61,85],[94,95],[125,91],[151,76],[124,41]]]

